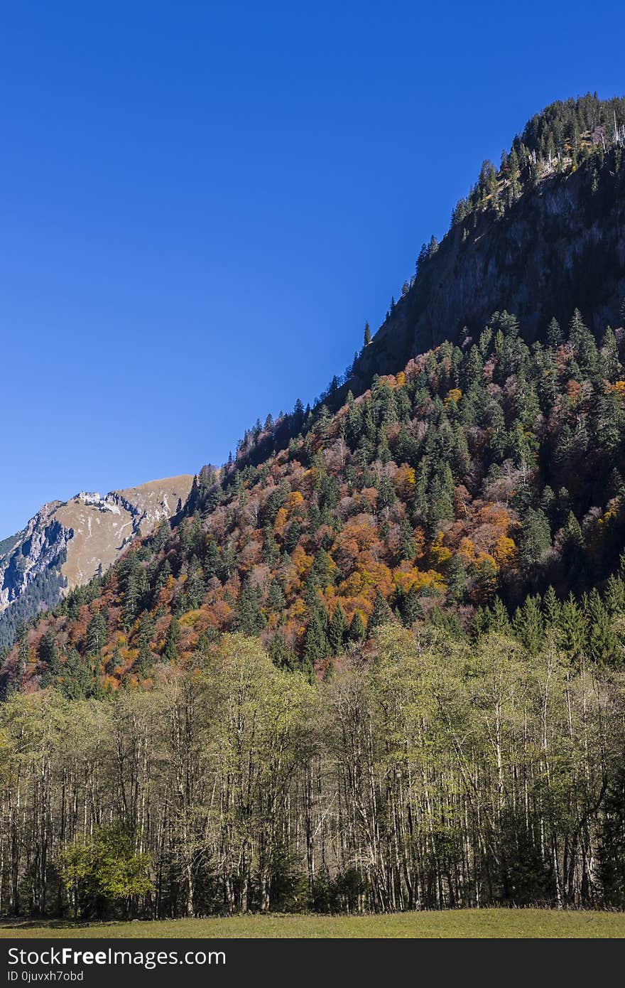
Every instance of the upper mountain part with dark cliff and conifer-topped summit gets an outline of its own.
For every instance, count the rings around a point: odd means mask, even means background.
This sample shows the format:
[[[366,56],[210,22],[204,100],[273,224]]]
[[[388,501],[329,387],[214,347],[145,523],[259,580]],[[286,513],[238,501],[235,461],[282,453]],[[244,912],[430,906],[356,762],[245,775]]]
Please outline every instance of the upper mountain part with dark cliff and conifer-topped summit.
[[[412,285],[356,361],[354,393],[504,308],[528,340],[576,306],[595,334],[614,325],[625,298],[624,150],[624,100],[585,97],[529,122],[499,171],[485,162],[441,243],[422,249]]]

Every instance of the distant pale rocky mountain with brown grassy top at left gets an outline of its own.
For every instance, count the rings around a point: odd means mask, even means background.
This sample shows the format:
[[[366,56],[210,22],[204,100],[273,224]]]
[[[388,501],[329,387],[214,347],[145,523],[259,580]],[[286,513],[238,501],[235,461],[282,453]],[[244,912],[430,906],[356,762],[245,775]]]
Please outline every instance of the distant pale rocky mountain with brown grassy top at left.
[[[170,477],[43,505],[22,532],[0,542],[0,645],[13,640],[20,620],[107,570],[133,538],[180,510],[192,481]]]

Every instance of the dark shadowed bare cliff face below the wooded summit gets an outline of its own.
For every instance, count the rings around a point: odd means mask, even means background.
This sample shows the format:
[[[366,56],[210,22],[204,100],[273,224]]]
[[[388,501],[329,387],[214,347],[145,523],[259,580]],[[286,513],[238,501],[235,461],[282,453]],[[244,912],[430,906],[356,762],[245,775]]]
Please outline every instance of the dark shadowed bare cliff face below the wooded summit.
[[[503,216],[474,213],[452,227],[356,362],[352,390],[374,373],[394,373],[411,357],[479,332],[495,311],[519,319],[528,340],[577,306],[601,335],[619,322],[625,297],[625,195],[612,155],[527,189]]]

